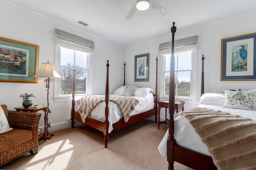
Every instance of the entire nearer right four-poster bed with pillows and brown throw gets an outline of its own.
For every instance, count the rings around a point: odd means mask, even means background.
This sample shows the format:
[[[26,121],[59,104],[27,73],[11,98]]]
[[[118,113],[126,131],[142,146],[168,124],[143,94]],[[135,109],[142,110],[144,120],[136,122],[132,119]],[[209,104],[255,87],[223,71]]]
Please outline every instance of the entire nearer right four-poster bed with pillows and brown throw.
[[[174,90],[171,90],[174,89],[174,24],[171,28],[169,128],[158,147],[166,149],[159,151],[163,156],[167,154],[168,170],[174,170],[174,161],[195,170],[256,169],[256,89],[224,89],[224,93],[204,94],[204,56],[200,103],[196,108],[178,113],[174,121]],[[179,138],[182,135],[184,137]]]

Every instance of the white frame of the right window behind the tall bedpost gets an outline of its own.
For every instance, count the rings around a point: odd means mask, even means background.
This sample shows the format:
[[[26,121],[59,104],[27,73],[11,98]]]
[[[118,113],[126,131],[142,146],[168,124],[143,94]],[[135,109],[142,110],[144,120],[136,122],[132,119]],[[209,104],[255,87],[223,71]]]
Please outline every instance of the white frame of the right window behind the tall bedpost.
[[[190,93],[191,96],[190,97],[185,97],[185,96],[175,96],[175,100],[176,101],[194,101],[194,99],[196,99],[196,90],[197,90],[197,86],[196,86],[196,49],[193,50],[187,50],[187,51],[192,51],[191,55],[192,55],[192,71],[191,71],[191,75],[190,75]],[[166,54],[162,54],[160,55],[162,62],[160,63],[160,68],[162,68],[162,71],[160,72],[160,100],[168,100],[169,95],[164,95],[164,91],[165,91],[165,63],[164,63],[164,55],[168,55],[170,53],[166,53]]]

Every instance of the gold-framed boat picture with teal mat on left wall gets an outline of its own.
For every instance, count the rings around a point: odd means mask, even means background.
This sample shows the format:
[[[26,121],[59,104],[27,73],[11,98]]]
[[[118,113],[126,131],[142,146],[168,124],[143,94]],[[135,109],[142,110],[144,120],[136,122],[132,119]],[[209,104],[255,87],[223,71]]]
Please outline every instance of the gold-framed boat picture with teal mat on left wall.
[[[0,82],[37,83],[39,46],[0,37]]]

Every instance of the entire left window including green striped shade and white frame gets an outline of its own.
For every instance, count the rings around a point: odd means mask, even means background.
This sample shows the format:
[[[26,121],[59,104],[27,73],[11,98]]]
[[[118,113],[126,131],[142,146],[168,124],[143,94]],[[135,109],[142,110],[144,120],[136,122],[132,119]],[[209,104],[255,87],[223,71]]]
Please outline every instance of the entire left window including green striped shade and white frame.
[[[92,59],[94,42],[76,35],[55,30],[56,32],[56,61],[55,66],[60,70],[61,79],[55,79],[54,101],[70,101],[72,87],[75,95],[90,95],[92,85]],[[73,72],[75,84],[73,85]]]

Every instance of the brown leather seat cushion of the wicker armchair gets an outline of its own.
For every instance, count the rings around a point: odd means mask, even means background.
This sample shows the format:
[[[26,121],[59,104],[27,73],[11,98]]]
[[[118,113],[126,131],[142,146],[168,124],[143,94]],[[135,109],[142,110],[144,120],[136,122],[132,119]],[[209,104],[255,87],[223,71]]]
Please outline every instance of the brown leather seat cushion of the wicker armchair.
[[[10,150],[32,139],[32,131],[26,129],[13,129],[0,134],[0,153]]]

